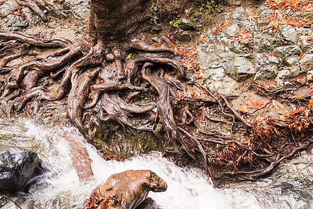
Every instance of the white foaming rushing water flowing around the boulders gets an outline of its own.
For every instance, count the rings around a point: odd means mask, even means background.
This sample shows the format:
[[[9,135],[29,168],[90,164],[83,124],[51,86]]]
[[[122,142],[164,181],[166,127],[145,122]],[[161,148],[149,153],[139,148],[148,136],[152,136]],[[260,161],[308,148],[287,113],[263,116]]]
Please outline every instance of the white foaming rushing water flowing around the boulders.
[[[66,138],[69,134],[86,147],[93,160],[95,180],[90,183],[80,183],[72,166],[69,155],[70,142]],[[102,184],[111,174],[128,169],[150,169],[166,181],[166,192],[149,194],[160,208],[164,209],[282,206],[275,202],[271,194],[266,197],[266,191],[255,189],[262,187],[260,184],[254,184],[252,187],[241,184],[230,189],[215,189],[201,171],[177,167],[159,153],[134,157],[125,162],[105,161],[71,125],[42,125],[22,119],[0,119],[0,143],[33,150],[47,164],[49,172],[31,187],[29,194],[19,194],[26,197],[26,208],[84,208],[85,199],[97,185]],[[289,202],[292,201],[294,199]]]

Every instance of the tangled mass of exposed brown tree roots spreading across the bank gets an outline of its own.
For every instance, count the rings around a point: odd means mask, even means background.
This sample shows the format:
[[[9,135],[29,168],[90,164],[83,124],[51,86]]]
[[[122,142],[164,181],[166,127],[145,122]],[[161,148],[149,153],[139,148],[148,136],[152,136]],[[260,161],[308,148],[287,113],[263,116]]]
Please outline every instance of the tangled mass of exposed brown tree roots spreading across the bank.
[[[4,54],[15,44],[11,40],[38,47],[62,47],[47,59],[33,59],[10,68],[4,68],[9,61],[33,54],[27,50],[5,56],[0,62],[0,75],[4,75],[0,79],[1,99],[10,103],[12,111],[25,108],[32,115],[31,109],[39,111],[43,100],[66,97],[68,118],[87,137],[101,135],[102,124],[108,121],[115,121],[125,131],[153,132],[168,140],[165,152],[186,154],[204,167],[211,178],[216,178],[214,172],[220,168],[226,176],[259,178],[312,144],[312,139],[299,137],[296,142],[285,134],[298,134],[292,126],[294,118],[285,123],[271,118],[248,123],[232,107],[230,100],[236,96],[214,95],[188,79],[179,63],[181,57],[164,45],[157,47],[135,40],[129,45],[133,56],[126,61],[118,47],[86,34],[74,45],[63,39],[39,40],[3,31],[0,39],[10,40],[1,42],[0,52]],[[58,90],[43,86],[43,77],[61,80]],[[253,85],[270,96],[291,91]],[[154,96],[147,101],[141,95]],[[215,116],[208,109],[214,109]],[[309,115],[305,119],[309,121],[306,131],[313,126],[312,111],[308,109],[308,114],[303,114]],[[231,134],[217,131],[212,123],[224,125]]]

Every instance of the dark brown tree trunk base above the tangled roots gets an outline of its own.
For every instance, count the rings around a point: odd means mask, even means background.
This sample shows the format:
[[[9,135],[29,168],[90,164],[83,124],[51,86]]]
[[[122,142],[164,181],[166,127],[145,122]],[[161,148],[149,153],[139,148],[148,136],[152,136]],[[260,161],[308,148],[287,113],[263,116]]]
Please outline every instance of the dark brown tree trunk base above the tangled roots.
[[[91,0],[86,33],[103,42],[122,42],[143,29],[148,0]]]

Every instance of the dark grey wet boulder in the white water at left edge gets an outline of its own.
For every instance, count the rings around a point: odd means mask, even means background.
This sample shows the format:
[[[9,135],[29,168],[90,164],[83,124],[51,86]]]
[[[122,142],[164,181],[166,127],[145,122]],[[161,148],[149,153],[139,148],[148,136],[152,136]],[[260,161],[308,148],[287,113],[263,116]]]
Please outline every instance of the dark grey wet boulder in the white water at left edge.
[[[0,191],[17,192],[42,169],[36,153],[0,145]]]

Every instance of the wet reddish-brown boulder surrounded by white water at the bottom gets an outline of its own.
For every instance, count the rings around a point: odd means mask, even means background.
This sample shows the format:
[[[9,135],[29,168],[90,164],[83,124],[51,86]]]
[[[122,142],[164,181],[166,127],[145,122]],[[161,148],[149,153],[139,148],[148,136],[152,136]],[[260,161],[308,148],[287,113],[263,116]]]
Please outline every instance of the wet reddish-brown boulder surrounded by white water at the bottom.
[[[95,191],[99,191],[95,196],[102,197],[104,208],[115,209],[154,209],[156,204],[152,199],[146,199],[147,194],[152,192],[164,192],[167,189],[164,182],[156,173],[149,170],[124,171],[110,176],[106,183]],[[93,202],[90,197],[90,202]],[[97,197],[99,199],[99,197]],[[93,208],[95,206],[88,206]],[[97,207],[97,206],[96,206]]]

